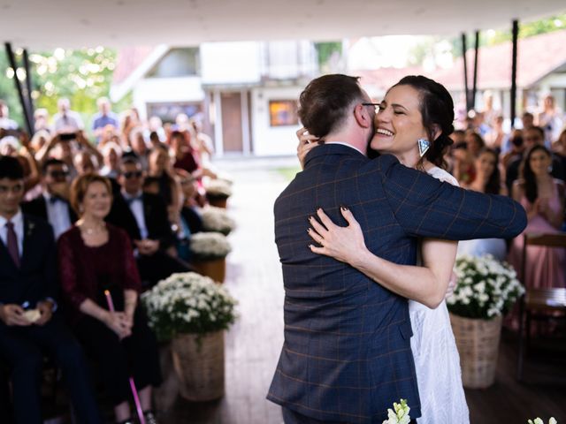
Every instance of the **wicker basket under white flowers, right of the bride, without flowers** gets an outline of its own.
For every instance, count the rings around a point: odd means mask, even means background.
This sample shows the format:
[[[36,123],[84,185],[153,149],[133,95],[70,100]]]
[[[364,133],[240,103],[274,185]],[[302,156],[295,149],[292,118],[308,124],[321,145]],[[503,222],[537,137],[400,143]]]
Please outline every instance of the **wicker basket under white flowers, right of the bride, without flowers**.
[[[481,320],[450,314],[464,387],[486,389],[495,381],[501,322],[501,315]]]

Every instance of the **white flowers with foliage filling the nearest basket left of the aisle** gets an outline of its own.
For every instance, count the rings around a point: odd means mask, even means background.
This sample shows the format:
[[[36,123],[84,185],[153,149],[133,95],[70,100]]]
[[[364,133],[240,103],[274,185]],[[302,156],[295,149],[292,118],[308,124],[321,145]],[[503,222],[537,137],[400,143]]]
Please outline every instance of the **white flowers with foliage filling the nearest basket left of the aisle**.
[[[142,294],[149,327],[157,340],[177,334],[204,334],[228,329],[236,318],[236,300],[208,276],[195,272],[172,274]]]

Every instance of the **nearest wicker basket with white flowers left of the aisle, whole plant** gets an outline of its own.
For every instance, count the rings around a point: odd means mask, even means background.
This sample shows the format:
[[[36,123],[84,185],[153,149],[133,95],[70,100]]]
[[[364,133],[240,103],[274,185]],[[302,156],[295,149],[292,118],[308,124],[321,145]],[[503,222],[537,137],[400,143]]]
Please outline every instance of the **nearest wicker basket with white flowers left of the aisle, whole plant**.
[[[171,340],[180,394],[191,401],[224,395],[224,332],[235,320],[236,300],[207,276],[172,274],[142,294],[149,327]]]

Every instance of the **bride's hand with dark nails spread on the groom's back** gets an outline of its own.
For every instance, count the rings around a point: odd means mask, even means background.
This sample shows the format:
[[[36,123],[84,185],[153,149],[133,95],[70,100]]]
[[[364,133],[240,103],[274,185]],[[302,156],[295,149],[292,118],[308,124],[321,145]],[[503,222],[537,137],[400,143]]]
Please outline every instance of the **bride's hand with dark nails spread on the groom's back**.
[[[342,206],[340,212],[348,223],[346,227],[333,223],[322,208],[317,209],[320,222],[314,216],[310,217],[311,228],[307,231],[309,231],[310,238],[320,245],[319,247],[310,245],[310,250],[315,254],[325,254],[338,261],[354,265],[361,254],[367,251],[362,228],[348,208]]]

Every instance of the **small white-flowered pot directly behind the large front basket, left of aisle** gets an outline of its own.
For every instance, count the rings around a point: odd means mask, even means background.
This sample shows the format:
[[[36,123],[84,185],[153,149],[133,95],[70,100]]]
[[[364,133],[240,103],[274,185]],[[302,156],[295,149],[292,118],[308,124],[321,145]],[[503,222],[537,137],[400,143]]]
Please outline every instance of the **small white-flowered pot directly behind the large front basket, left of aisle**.
[[[189,241],[191,265],[203,276],[218,283],[226,277],[226,256],[232,251],[226,236],[219,232],[197,232]]]

